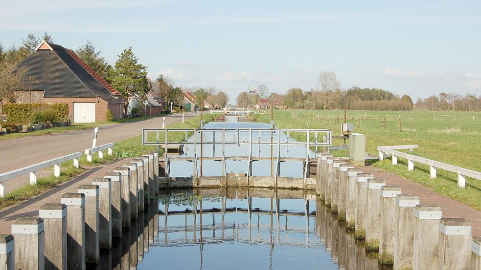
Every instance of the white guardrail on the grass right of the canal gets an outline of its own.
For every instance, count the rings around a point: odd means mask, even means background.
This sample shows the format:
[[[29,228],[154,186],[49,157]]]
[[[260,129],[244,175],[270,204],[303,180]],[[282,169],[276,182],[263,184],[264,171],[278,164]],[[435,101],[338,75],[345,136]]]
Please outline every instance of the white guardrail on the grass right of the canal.
[[[408,160],[408,171],[414,170],[414,162],[429,166],[429,177],[436,178],[437,169],[447,170],[458,174],[458,187],[466,187],[466,177],[481,180],[481,172],[466,169],[463,167],[442,163],[439,161],[418,157],[412,154],[400,152],[400,149],[418,148],[418,145],[392,145],[392,146],[378,146],[379,160],[383,160],[385,155],[391,156],[392,165],[397,165],[397,158],[404,158]]]

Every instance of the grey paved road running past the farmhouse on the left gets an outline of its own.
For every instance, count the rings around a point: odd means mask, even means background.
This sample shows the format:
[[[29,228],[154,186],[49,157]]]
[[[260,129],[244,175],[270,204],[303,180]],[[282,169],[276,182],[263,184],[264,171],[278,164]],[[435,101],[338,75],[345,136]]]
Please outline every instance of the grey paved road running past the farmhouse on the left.
[[[185,118],[193,116],[195,116],[195,113],[185,114]],[[166,115],[165,125],[171,125],[181,120],[182,114]],[[162,117],[100,126],[97,134],[97,145],[118,142],[140,135],[143,128],[161,127]],[[0,141],[0,172],[7,172],[78,151],[83,152],[85,149],[92,147],[92,139],[93,129],[85,129]],[[39,177],[52,173],[52,171],[43,171],[39,173]],[[5,191],[10,192],[28,184],[28,182],[28,175],[8,180]]]

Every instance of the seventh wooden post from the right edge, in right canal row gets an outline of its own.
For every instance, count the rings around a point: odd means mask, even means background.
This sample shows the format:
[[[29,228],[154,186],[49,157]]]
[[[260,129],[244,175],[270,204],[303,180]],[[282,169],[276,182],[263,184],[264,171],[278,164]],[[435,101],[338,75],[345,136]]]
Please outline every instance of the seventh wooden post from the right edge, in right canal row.
[[[370,173],[357,174],[356,187],[356,219],[354,221],[354,237],[356,239],[366,239],[366,210],[367,210],[367,189],[368,179],[373,179]]]

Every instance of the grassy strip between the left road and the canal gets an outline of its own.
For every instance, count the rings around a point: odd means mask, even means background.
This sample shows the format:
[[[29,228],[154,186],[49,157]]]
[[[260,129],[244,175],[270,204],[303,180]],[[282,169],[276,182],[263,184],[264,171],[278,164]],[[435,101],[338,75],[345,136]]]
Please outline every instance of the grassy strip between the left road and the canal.
[[[208,123],[218,115],[211,115],[208,114],[204,116],[204,123]],[[184,121],[184,123],[179,122],[173,125],[170,125],[170,128],[198,128],[200,126],[200,117],[193,117],[188,118]],[[176,136],[169,138],[169,140],[178,140],[182,141],[181,136]],[[137,157],[145,154],[148,151],[155,150],[155,146],[145,146],[142,145],[142,136],[132,137],[123,141],[119,141],[115,143],[113,149],[113,155],[107,155],[107,149],[103,151],[104,159],[99,159],[97,154],[92,156],[92,162],[87,162],[87,156],[84,154],[80,158],[80,165],[81,168],[76,168],[73,166],[73,161],[67,161],[62,163],[62,168],[64,168],[61,172],[60,177],[53,176],[53,168],[46,169],[51,170],[52,174],[47,177],[41,177],[37,181],[37,185],[25,185],[21,188],[8,192],[5,197],[0,198],[0,209],[5,208],[14,204],[17,204],[23,200],[27,200],[34,196],[38,196],[40,194],[45,193],[46,191],[57,187],[58,185],[71,180],[72,178],[76,177],[80,173],[86,171],[89,168],[98,166],[100,164],[106,164],[111,161],[114,161],[119,158],[129,158],[129,157]],[[159,149],[159,154],[163,154],[163,149]]]

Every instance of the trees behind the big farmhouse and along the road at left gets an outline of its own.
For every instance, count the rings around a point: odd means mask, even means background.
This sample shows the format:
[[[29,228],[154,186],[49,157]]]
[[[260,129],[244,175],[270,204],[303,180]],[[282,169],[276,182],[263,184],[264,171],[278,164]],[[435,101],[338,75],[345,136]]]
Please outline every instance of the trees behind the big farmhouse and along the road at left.
[[[17,68],[17,65],[23,61],[29,54],[34,52],[39,43],[45,40],[53,43],[52,37],[44,32],[42,37],[36,37],[33,33],[28,34],[26,39],[22,39],[22,45],[19,47],[11,46],[5,49],[0,42],[0,102],[15,100],[15,90],[25,89],[32,83],[33,78],[28,77],[27,68]],[[109,64],[101,55],[101,50],[97,50],[95,45],[90,41],[74,50],[75,53],[86,62],[92,69],[110,83],[124,98],[124,114],[127,114],[127,106],[129,99],[137,94],[142,99],[146,99],[146,94],[150,90],[149,79],[147,78],[147,66],[139,63],[132,47],[125,48],[119,55],[114,65]],[[15,72],[12,72],[15,70]],[[229,101],[227,94],[218,91],[214,87],[191,87],[183,89],[175,86],[175,82],[170,78],[160,75],[155,80],[159,83],[159,87],[155,88],[156,94],[162,97],[167,104],[172,102],[177,106],[184,105],[183,91],[196,92],[199,97],[205,98],[207,102],[225,106]],[[209,102],[209,103],[210,103]],[[199,107],[202,106],[200,103]]]

